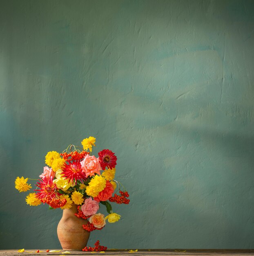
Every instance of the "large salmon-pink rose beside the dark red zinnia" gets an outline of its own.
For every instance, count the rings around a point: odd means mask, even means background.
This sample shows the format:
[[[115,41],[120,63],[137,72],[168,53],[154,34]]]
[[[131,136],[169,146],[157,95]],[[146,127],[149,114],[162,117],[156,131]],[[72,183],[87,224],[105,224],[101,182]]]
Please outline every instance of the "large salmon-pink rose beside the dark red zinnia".
[[[95,173],[100,175],[100,162],[99,158],[96,158],[94,155],[87,155],[84,160],[80,162],[82,167],[82,172],[86,174],[86,176],[94,176]]]

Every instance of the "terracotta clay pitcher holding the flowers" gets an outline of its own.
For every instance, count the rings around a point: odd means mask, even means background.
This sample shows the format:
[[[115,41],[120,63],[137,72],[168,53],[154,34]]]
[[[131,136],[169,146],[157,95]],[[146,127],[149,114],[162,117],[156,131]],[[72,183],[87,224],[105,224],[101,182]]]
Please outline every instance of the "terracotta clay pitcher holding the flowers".
[[[58,223],[57,235],[63,250],[82,250],[90,236],[90,232],[83,229],[82,225],[88,220],[77,218],[77,206],[74,204],[70,209],[64,209],[62,218]]]

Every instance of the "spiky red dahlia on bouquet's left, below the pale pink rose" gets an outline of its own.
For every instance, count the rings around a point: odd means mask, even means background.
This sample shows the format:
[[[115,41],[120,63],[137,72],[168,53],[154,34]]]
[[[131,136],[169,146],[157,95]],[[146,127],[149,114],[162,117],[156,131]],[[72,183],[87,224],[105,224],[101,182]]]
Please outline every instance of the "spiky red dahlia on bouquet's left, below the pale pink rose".
[[[36,197],[40,200],[52,200],[57,194],[60,195],[57,192],[56,184],[53,183],[53,177],[45,177],[44,179],[39,180],[39,182],[36,183],[36,186],[40,188],[34,189],[35,191],[38,191]]]

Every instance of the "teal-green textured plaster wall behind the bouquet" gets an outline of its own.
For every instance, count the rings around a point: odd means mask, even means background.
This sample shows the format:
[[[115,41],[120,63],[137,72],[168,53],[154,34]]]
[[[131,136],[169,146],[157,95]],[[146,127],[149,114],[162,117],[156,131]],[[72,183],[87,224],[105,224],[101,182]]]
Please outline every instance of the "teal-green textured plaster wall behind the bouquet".
[[[1,0],[0,249],[57,248],[17,176],[97,139],[131,203],[111,248],[254,248],[254,1]],[[102,211],[106,213],[105,211]]]

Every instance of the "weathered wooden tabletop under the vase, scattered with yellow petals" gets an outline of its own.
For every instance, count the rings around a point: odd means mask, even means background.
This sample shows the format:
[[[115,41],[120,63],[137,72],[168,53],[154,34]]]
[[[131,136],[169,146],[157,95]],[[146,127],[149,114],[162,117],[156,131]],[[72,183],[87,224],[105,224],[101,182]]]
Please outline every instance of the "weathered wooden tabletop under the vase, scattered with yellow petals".
[[[39,249],[40,250],[40,249]],[[59,250],[59,249],[54,249]],[[133,248],[132,250],[135,250]],[[25,252],[18,252],[18,250],[0,250],[0,256],[38,256],[38,255],[59,255],[59,256],[79,256],[79,255],[133,255],[133,256],[254,256],[254,249],[138,249],[137,252],[129,252],[129,249],[108,249],[105,253],[101,252],[82,252],[82,251],[69,251],[70,253],[63,254],[64,250],[60,252],[46,252],[41,249],[36,253],[37,249],[26,249]]]

